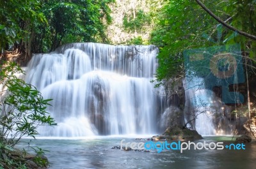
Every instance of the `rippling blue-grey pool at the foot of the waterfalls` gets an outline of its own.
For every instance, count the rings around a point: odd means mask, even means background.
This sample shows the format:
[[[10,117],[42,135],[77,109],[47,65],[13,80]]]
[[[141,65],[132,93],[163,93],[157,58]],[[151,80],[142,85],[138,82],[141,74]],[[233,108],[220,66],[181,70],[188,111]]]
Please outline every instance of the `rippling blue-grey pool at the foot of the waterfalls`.
[[[77,140],[38,139],[29,143],[31,147],[41,147],[49,152],[50,168],[232,168],[256,167],[256,143],[246,144],[245,150],[190,150],[150,152],[121,151],[111,149],[120,141],[141,142],[134,138],[99,137]],[[227,142],[230,136],[205,136],[206,142]],[[20,147],[28,148],[29,140],[22,140]],[[142,141],[147,142],[147,141]],[[224,145],[225,145],[224,143]]]

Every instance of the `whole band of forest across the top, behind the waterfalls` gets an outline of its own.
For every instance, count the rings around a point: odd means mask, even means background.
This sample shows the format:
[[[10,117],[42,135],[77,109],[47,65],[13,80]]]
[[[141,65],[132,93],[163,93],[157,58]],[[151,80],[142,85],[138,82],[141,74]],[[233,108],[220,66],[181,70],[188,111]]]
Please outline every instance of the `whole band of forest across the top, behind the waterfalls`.
[[[256,1],[202,3],[230,26],[256,34]],[[188,48],[240,43],[244,57],[255,59],[255,40],[220,28],[192,0],[2,0],[0,6],[1,57],[14,55],[21,64],[32,53],[51,52],[65,43],[153,44],[160,49],[161,83],[183,77],[182,52]]]

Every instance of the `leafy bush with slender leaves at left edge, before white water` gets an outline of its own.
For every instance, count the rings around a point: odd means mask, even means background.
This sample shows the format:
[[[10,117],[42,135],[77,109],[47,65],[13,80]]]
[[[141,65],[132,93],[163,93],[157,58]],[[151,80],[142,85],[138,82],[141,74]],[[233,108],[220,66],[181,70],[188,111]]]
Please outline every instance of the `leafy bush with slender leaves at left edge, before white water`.
[[[6,63],[0,71],[0,133],[4,144],[13,147],[24,136],[35,138],[41,125],[55,125],[46,112],[51,99],[17,78],[15,73],[24,73],[15,63]]]

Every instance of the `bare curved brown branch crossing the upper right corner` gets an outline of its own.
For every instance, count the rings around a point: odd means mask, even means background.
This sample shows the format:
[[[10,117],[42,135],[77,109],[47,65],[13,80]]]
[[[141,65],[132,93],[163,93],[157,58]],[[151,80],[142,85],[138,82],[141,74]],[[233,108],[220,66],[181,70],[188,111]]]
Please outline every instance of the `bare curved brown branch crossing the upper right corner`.
[[[220,22],[223,26],[227,27],[228,29],[231,29],[232,31],[235,31],[243,36],[246,36],[247,38],[251,38],[252,40],[256,40],[256,36],[252,35],[252,34],[248,34],[248,33],[244,33],[243,31],[240,31],[238,29],[236,29],[235,27],[230,26],[229,24],[227,24],[226,22],[224,22],[223,20],[221,20],[221,18],[217,17],[214,13],[212,13],[211,10],[209,10],[204,3],[202,3],[200,0],[196,0],[196,3],[198,3],[205,11],[207,11],[207,13],[209,13],[211,15],[211,17],[213,17],[215,20],[217,20],[218,22]]]

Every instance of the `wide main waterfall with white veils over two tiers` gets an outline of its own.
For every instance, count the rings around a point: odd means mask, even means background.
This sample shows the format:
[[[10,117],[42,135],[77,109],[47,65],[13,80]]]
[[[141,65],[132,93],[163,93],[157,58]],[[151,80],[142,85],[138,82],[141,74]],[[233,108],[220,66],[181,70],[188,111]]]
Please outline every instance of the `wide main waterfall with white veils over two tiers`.
[[[26,82],[44,98],[58,126],[41,136],[93,136],[156,133],[159,102],[150,80],[157,48],[72,43],[50,54],[35,54]]]

